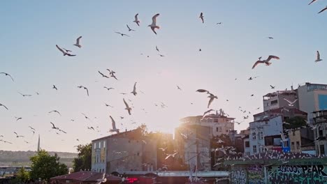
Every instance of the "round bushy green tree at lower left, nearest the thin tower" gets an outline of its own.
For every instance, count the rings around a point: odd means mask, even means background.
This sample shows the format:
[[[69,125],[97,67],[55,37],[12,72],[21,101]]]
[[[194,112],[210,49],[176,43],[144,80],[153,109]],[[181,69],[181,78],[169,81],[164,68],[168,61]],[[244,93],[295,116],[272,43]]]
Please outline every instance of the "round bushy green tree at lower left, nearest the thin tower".
[[[29,173],[31,179],[42,178],[42,180],[49,181],[54,176],[68,173],[66,164],[59,162],[60,158],[57,153],[51,156],[47,151],[40,150],[37,155],[32,156],[29,160],[32,162]]]

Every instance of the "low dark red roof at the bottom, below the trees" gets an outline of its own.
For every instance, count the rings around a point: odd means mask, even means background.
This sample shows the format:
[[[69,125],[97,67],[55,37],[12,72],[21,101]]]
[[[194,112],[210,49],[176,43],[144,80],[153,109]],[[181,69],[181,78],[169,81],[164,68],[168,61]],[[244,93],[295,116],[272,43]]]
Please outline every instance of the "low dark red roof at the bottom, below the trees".
[[[79,171],[71,174],[56,176],[50,178],[51,183],[56,184],[83,184],[83,183],[96,183],[96,180],[101,179],[103,177],[103,173],[93,172],[93,171]],[[110,174],[106,174],[107,181],[103,184],[108,183],[120,183],[122,178],[117,176],[112,176]]]

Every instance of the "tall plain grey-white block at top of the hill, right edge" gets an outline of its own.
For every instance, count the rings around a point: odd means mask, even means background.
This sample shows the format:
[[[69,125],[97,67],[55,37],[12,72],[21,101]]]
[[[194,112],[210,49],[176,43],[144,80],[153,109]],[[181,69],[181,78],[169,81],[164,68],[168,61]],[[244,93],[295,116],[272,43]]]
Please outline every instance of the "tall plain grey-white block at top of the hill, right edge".
[[[327,85],[311,84],[306,82],[299,85],[296,90],[298,93],[298,107],[301,111],[307,112],[307,119],[313,122],[312,112],[327,109]]]

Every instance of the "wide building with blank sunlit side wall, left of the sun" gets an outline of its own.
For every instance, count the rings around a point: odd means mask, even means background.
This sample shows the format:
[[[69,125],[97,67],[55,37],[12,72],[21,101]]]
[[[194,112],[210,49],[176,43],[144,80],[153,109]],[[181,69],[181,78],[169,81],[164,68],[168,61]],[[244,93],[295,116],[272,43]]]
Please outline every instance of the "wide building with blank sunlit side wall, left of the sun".
[[[158,134],[161,133],[147,134],[142,128],[137,128],[93,140],[92,171],[111,174],[115,171],[124,173],[157,170],[157,145],[159,141],[163,141]]]

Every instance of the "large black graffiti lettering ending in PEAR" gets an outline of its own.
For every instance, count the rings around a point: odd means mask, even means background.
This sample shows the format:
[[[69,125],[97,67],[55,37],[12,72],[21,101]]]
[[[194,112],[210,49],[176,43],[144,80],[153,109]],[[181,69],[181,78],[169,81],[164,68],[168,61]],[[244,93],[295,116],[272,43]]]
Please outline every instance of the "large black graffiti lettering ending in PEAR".
[[[278,166],[279,173],[292,173],[292,174],[319,174],[319,176],[327,176],[324,172],[324,165],[283,165]]]

